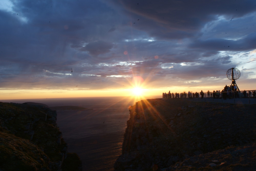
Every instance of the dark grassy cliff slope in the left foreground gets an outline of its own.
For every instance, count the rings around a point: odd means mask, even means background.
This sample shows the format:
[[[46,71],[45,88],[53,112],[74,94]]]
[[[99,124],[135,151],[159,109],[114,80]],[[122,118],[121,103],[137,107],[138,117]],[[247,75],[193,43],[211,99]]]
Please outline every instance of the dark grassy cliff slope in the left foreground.
[[[56,117],[45,106],[0,102],[0,170],[81,170]]]

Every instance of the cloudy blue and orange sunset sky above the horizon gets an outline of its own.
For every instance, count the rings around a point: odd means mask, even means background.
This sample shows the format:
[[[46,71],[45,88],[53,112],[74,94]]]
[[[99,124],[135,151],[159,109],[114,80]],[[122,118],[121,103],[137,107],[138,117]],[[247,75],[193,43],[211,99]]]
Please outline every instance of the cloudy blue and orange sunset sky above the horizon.
[[[255,0],[1,0],[0,99],[254,90]],[[135,91],[135,90],[137,91]]]

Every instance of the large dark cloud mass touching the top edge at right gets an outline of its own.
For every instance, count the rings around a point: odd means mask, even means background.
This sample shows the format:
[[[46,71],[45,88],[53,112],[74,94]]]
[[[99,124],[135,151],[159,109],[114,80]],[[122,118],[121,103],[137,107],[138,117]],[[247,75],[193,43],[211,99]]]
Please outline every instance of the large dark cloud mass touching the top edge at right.
[[[255,2],[234,1],[114,1],[132,15],[133,27],[148,34],[168,39],[194,37],[207,23],[224,16],[241,17],[255,10]],[[145,21],[144,21],[145,20]]]

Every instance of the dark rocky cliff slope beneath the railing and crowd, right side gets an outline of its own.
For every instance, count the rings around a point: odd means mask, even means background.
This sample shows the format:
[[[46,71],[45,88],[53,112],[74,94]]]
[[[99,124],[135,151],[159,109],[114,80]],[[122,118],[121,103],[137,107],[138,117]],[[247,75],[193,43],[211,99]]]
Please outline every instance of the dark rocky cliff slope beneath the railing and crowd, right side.
[[[256,106],[142,100],[130,107],[116,170],[255,170]]]

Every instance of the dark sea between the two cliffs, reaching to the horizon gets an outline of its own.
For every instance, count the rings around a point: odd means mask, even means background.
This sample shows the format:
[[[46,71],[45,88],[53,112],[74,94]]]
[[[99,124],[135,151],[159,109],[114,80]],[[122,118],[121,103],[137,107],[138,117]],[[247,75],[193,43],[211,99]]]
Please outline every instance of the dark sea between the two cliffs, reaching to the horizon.
[[[143,99],[160,97],[84,97],[13,99],[2,102],[36,102],[52,106],[80,106],[91,110],[57,111],[57,125],[68,144],[69,153],[77,153],[83,171],[114,170],[122,154],[123,135],[130,118],[129,106]]]

